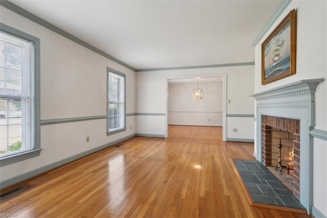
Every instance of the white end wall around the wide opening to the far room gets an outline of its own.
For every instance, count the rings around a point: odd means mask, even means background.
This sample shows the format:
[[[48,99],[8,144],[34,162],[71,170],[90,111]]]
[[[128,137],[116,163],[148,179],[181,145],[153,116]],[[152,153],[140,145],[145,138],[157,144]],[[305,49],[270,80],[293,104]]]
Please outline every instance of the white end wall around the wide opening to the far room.
[[[203,69],[183,69],[183,70],[166,70],[166,71],[148,71],[136,73],[136,112],[137,113],[164,113],[165,118],[168,111],[168,79],[178,78],[194,78],[194,77],[219,77],[226,75],[227,88],[226,99],[230,99],[231,103],[226,106],[227,114],[253,114],[254,99],[249,97],[254,93],[254,66],[233,66],[233,67],[217,67]],[[154,118],[154,116],[153,116]],[[149,116],[138,116],[137,124],[142,126],[140,134],[160,134],[166,135],[167,122],[166,119],[156,117],[151,126],[149,125]],[[242,129],[253,126],[253,119],[236,118],[240,123],[247,123],[246,127],[242,124],[237,126],[240,132]],[[228,122],[228,121],[227,121]],[[228,125],[228,124],[227,124]],[[157,129],[161,129],[160,133]],[[227,135],[228,132],[227,130]],[[244,130],[245,131],[245,130]],[[240,133],[239,132],[239,133]],[[236,135],[233,138],[253,139],[253,133],[246,136]]]

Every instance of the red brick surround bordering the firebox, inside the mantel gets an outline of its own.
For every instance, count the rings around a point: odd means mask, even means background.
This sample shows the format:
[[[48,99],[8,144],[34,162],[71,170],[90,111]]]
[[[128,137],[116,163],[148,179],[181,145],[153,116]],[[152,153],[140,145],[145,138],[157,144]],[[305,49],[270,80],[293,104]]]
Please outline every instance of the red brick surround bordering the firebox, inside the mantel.
[[[262,164],[265,166],[276,166],[275,163],[272,163],[273,146],[277,145],[272,140],[273,128],[292,134],[294,148],[293,194],[300,199],[300,120],[262,115],[261,155]]]

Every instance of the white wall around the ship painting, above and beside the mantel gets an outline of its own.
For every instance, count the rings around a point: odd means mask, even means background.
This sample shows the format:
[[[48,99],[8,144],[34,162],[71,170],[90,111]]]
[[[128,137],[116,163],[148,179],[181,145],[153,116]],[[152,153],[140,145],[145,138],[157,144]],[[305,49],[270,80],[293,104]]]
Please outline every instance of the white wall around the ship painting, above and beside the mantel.
[[[261,85],[261,43],[292,9],[297,10],[296,74]],[[268,33],[255,46],[255,92],[302,79],[327,79],[327,5],[326,1],[292,1]],[[316,126],[327,130],[327,81],[316,91]],[[256,130],[255,130],[256,131]],[[256,150],[255,144],[255,150]],[[314,139],[314,206],[327,216],[327,142]]]

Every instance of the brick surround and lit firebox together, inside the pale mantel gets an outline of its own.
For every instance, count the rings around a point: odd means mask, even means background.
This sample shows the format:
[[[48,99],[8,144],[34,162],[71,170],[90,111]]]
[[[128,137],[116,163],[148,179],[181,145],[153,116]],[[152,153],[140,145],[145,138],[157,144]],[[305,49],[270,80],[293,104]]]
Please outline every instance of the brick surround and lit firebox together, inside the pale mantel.
[[[292,184],[292,186],[286,186],[291,189],[297,199],[300,198],[299,130],[299,120],[262,116],[262,163],[274,170],[278,166],[278,172],[282,169],[284,179]],[[281,154],[279,154],[278,144],[281,147]],[[278,159],[279,165],[284,167],[279,167]]]

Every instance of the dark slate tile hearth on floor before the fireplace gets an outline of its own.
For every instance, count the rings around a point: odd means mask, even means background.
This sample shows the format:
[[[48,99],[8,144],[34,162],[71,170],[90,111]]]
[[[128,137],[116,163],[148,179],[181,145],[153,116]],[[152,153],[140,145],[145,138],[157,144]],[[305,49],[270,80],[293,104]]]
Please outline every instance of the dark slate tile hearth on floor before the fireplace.
[[[305,209],[262,163],[255,160],[233,159],[253,202]]]

